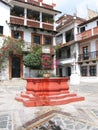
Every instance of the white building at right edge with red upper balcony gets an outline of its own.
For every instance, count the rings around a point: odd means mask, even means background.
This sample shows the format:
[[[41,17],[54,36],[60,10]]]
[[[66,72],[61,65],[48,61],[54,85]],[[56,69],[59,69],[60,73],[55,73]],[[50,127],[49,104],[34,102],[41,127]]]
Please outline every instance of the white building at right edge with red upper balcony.
[[[98,83],[98,16],[78,27],[80,81]]]

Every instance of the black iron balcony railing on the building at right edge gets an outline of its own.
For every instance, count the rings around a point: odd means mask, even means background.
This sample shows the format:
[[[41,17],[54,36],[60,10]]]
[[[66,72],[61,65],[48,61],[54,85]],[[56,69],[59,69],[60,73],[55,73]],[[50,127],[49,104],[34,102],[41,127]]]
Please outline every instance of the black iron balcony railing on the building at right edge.
[[[86,54],[80,54],[78,61],[83,61],[83,60],[96,60],[98,58],[98,51],[94,52],[89,52]]]

